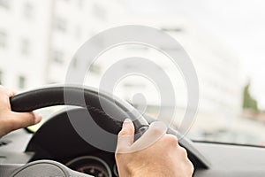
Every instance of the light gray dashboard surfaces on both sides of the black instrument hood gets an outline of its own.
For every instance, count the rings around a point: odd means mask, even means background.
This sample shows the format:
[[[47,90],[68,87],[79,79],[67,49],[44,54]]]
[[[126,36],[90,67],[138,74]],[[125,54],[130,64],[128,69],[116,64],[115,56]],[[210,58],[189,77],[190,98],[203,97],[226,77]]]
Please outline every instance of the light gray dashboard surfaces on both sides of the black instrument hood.
[[[31,137],[31,134],[21,129],[0,140],[0,142],[8,142],[0,146],[0,176],[4,172],[4,166],[27,164],[34,157],[34,152],[25,152]],[[195,169],[193,175],[195,177],[265,176],[264,148],[208,142],[193,142],[193,147],[199,150],[210,164],[208,169]],[[95,151],[90,153],[95,153]]]

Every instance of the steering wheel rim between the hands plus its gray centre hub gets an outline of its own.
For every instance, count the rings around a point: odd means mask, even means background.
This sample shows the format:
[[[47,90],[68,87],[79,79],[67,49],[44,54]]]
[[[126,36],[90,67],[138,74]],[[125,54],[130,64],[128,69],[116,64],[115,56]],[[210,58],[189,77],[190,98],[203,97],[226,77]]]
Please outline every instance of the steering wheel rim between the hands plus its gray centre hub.
[[[65,99],[67,97],[67,99]],[[102,104],[104,105],[102,107]],[[34,89],[17,96],[11,97],[11,110],[13,112],[32,112],[36,109],[54,105],[74,105],[86,108],[88,112],[102,112],[103,119],[92,117],[100,127],[108,129],[109,124],[115,124],[117,129],[111,131],[117,135],[123,121],[132,119],[135,134],[140,137],[148,128],[148,121],[137,112],[132,105],[105,92],[98,92],[92,88],[78,86],[57,86],[50,88]],[[110,114],[104,110],[110,111]],[[108,122],[108,124],[106,124]],[[116,143],[115,143],[116,144]],[[115,149],[115,147],[113,147]],[[7,175],[6,175],[7,176]],[[11,174],[11,177],[22,176],[87,176],[77,173],[68,167],[51,160],[39,160],[23,165]]]

